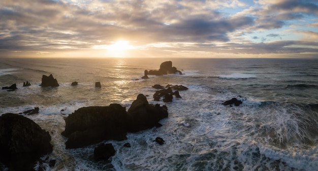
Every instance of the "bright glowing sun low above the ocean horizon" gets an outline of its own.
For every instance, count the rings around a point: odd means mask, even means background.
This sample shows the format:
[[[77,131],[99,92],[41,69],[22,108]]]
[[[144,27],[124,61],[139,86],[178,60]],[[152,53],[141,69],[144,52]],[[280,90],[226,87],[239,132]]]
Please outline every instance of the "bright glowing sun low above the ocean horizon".
[[[106,47],[111,57],[128,57],[128,51],[134,49],[130,41],[116,41]]]

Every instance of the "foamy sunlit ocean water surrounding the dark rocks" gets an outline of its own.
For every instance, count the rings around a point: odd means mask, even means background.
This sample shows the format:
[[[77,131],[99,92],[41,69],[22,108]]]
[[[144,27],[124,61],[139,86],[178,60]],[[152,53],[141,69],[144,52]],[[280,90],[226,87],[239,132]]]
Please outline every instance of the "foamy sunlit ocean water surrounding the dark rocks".
[[[184,75],[141,79],[169,60]],[[60,86],[39,86],[50,74]],[[0,86],[14,83],[0,90],[0,115],[40,108],[26,117],[52,136],[56,164],[47,170],[318,170],[318,59],[0,58]],[[189,89],[165,103],[153,101],[155,84]],[[168,107],[162,127],[107,141],[116,150],[109,161],[93,161],[96,145],[65,149],[68,114],[113,103],[128,110],[140,93]],[[222,105],[238,96],[242,105]]]

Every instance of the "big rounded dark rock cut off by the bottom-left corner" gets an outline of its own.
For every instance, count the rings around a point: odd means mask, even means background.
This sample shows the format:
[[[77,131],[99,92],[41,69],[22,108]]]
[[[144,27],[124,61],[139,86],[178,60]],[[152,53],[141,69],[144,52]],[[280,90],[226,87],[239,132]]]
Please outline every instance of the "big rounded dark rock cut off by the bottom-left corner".
[[[49,132],[34,121],[18,115],[0,116],[0,162],[9,170],[34,170],[41,155],[52,152]]]

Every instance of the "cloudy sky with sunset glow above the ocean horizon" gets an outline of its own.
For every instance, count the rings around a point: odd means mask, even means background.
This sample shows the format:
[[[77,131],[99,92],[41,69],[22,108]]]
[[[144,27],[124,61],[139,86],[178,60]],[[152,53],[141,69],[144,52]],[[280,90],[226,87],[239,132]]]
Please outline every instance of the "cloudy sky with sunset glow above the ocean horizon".
[[[318,1],[2,0],[0,57],[318,58]]]

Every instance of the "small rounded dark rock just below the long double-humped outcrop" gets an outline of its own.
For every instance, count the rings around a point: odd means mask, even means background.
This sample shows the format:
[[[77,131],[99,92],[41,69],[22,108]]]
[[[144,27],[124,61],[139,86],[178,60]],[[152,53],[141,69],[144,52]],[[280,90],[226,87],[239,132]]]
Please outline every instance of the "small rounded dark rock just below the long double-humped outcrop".
[[[94,148],[94,159],[99,160],[108,160],[111,156],[114,156],[116,153],[112,144],[100,144]]]

